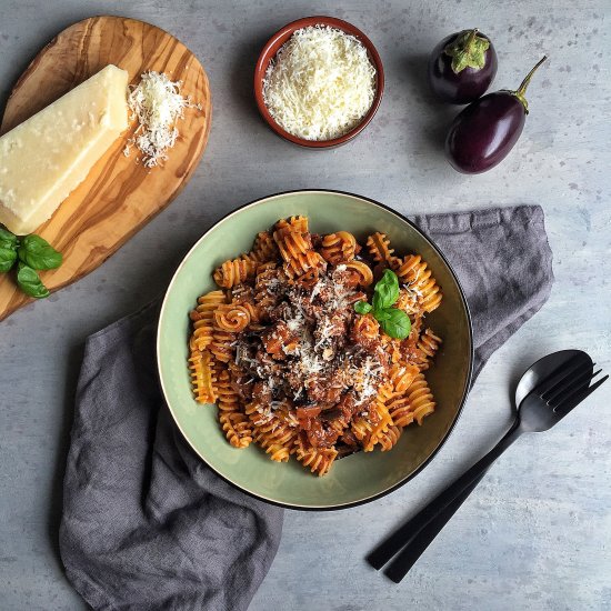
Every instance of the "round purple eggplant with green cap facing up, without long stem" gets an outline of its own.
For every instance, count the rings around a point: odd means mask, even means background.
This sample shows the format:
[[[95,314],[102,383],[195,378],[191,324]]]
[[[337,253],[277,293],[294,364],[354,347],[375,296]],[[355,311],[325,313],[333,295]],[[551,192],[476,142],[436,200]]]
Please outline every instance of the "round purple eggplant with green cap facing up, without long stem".
[[[483,96],[497,74],[497,51],[478,29],[444,38],[429,59],[429,83],[445,102],[468,104]]]

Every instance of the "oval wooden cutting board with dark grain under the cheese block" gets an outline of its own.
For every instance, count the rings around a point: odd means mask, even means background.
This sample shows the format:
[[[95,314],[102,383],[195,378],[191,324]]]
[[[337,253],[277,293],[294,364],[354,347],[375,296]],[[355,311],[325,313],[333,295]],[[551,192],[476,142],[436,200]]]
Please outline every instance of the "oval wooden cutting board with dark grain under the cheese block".
[[[94,270],[139,229],[163,210],[184,187],[203,153],[212,106],[208,77],[198,59],[168,32],[121,17],[93,17],[56,37],[30,63],[7,102],[0,133],[6,133],[77,84],[113,63],[131,83],[147,70],[182,81],[182,96],[199,109],[179,120],[180,137],[163,167],[138,163],[139,151],[123,149],[136,121],[98,161],[53,217],[36,233],[63,253],[57,270],[40,272],[57,291]],[[32,301],[16,286],[12,271],[0,274],[0,320]],[[51,306],[51,304],[49,304]]]

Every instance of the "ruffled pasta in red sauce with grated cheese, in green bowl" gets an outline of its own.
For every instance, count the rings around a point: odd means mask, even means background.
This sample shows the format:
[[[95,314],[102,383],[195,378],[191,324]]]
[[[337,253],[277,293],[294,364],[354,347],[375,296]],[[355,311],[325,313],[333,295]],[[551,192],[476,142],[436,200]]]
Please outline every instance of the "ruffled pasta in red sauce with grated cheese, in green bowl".
[[[363,243],[348,231],[311,233],[306,217],[291,217],[214,271],[220,289],[189,314],[188,367],[196,401],[217,403],[234,448],[256,442],[273,461],[294,455],[324,475],[341,457],[391,450],[434,411],[424,371],[441,338],[424,317],[441,289],[420,254],[397,256],[380,232]],[[400,282],[394,307],[411,321],[403,340],[354,310],[385,268]]]

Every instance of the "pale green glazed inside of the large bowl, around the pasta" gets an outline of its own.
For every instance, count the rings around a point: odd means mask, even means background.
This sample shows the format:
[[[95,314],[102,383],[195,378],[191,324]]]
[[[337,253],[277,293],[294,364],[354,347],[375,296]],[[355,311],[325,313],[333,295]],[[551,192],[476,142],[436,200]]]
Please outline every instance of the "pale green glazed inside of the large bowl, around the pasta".
[[[278,219],[306,214],[318,233],[347,230],[359,239],[388,233],[398,253],[419,252],[443,290],[428,322],[443,338],[427,378],[437,401],[422,427],[408,427],[390,452],[360,452],[335,461],[323,478],[294,459],[276,463],[258,445],[232,448],[217,422],[217,408],[193,400],[187,369],[189,311],[214,288],[211,273],[250,249],[257,232]],[[340,509],[372,501],[418,473],[452,430],[469,389],[472,333],[467,301],[437,247],[407,219],[365,198],[334,191],[293,191],[249,203],[208,230],[178,268],[161,308],[157,339],[161,387],[170,411],[193,450],[219,475],[264,501],[294,509]]]

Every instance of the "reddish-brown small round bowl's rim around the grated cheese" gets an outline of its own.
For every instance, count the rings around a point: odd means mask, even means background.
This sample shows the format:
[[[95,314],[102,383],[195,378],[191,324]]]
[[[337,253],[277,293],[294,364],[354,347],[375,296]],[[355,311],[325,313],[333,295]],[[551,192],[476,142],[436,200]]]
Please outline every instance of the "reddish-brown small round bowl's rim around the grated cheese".
[[[296,30],[300,30],[301,28],[307,28],[309,26],[315,26],[319,23],[342,30],[345,33],[354,36],[363,43],[363,46],[365,47],[370,56],[370,59],[372,60],[375,67],[375,93],[373,96],[373,102],[371,103],[371,108],[367,111],[367,114],[363,117],[362,121],[359,124],[357,124],[354,128],[352,128],[349,132],[338,138],[333,138],[331,140],[306,140],[304,138],[299,138],[298,136],[293,136],[292,133],[289,133],[286,129],[283,129],[280,124],[276,122],[270,111],[268,110],[266,102],[263,101],[262,82],[263,82],[263,78],[266,76],[268,66],[270,61],[273,59],[273,57],[276,57],[276,53],[271,56],[267,61],[266,61],[266,56],[269,53],[270,49],[278,42],[278,40],[289,33],[292,36],[292,33]],[[382,66],[382,60],[380,58],[380,54],[378,53],[378,50],[375,49],[373,42],[371,42],[371,40],[359,28],[337,17],[327,17],[327,16],[318,14],[312,17],[302,17],[301,19],[297,19],[294,21],[291,21],[290,23],[287,23],[283,28],[280,28],[280,30],[278,30],[266,42],[266,44],[263,46],[263,49],[259,53],[259,58],[257,59],[257,63],[254,67],[254,99],[257,101],[259,113],[261,114],[266,123],[278,136],[280,136],[284,140],[288,140],[289,142],[292,142],[293,144],[298,144],[300,147],[304,147],[308,149],[330,149],[333,147],[338,147],[340,144],[344,144],[353,140],[354,138],[357,138],[357,136],[359,136],[359,133],[361,133],[361,131],[364,130],[364,128],[371,122],[371,120],[378,112],[378,109],[380,108],[380,103],[382,102],[383,92],[384,92],[384,68]]]

